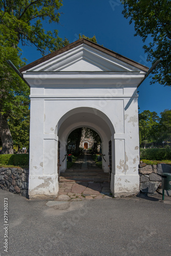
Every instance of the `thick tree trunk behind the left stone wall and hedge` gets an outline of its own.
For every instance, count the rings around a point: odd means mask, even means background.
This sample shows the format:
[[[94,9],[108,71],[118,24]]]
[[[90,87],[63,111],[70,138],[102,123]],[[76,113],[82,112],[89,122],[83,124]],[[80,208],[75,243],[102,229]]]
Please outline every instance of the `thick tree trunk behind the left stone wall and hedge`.
[[[13,154],[13,140],[7,122],[7,116],[0,114],[0,136],[2,140],[1,154]]]

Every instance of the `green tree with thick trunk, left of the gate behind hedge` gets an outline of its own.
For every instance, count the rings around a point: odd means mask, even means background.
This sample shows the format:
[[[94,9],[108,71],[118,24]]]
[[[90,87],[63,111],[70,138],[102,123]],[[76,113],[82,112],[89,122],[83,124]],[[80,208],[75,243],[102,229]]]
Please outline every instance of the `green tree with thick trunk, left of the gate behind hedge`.
[[[0,136],[1,154],[13,154],[13,140],[8,126],[8,119],[29,108],[29,88],[19,76],[12,71],[6,59],[11,59],[16,67],[24,62],[18,57],[18,49],[3,41],[0,34]]]

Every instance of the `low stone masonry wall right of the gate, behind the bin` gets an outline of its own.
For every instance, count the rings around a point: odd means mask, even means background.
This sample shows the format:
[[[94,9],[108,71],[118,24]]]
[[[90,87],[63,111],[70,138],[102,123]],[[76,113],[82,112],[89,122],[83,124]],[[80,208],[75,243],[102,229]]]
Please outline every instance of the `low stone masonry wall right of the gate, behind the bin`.
[[[158,193],[162,194],[162,173],[171,173],[171,165],[164,163],[157,165],[147,165],[146,163],[140,163],[140,191],[142,193],[155,193],[155,191],[157,191]],[[165,194],[171,196],[171,190],[165,191]]]

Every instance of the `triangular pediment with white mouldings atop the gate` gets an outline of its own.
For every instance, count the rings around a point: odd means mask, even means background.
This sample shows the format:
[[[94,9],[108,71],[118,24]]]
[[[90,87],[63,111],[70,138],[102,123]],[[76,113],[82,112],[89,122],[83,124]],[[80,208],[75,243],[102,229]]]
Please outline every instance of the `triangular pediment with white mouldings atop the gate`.
[[[20,72],[134,72],[145,69],[148,70],[135,61],[83,39],[32,62],[20,69]]]

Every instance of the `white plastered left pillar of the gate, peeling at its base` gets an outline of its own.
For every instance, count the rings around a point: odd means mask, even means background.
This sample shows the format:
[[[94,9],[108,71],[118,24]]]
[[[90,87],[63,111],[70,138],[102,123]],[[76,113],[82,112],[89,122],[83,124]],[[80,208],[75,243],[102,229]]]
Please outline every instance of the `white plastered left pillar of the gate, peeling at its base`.
[[[31,100],[29,198],[57,196],[57,136],[44,134],[44,100]]]

